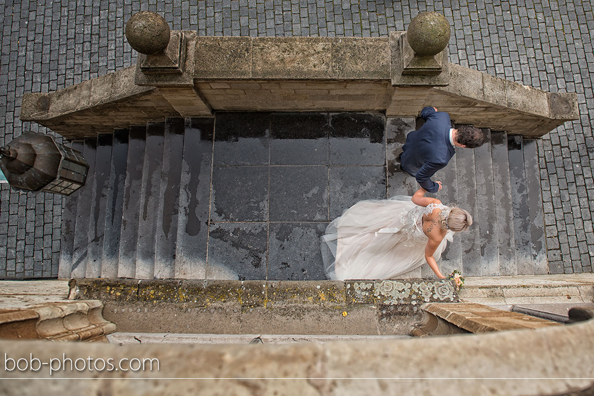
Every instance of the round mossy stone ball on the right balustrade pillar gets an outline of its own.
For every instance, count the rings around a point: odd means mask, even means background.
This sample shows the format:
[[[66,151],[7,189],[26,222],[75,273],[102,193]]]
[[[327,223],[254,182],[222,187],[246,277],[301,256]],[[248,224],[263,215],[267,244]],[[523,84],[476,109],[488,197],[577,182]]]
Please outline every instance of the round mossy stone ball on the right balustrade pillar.
[[[410,21],[406,39],[416,55],[437,55],[450,42],[450,23],[437,12],[421,12]]]

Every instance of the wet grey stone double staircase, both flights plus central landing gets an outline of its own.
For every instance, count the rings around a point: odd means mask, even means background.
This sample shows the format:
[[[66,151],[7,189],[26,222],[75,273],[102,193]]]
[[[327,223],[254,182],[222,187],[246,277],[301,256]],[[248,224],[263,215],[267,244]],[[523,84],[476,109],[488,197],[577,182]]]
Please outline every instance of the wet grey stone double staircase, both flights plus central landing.
[[[65,198],[61,278],[321,280],[319,237],[360,199],[411,195],[397,157],[413,118],[217,113],[117,129],[72,145],[87,184]],[[435,197],[475,218],[441,268],[546,274],[536,141],[485,129]],[[387,166],[386,166],[387,164]],[[432,277],[422,266],[406,277]]]

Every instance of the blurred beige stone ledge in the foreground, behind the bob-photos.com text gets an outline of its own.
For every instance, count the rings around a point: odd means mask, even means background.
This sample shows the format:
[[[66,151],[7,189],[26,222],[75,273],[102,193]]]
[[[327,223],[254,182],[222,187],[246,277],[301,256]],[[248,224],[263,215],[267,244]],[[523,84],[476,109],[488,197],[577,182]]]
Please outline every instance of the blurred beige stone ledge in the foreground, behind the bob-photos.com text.
[[[131,396],[151,394],[155,389],[159,389],[162,394],[187,393],[188,385],[184,382],[163,378],[230,378],[216,383],[212,380],[197,383],[204,391],[219,394],[245,394],[249,392],[246,389],[257,389],[262,394],[294,394],[298,389],[299,394],[368,395],[399,394],[405,388],[407,394],[429,396],[561,395],[594,389],[594,381],[589,379],[594,366],[594,356],[589,351],[593,349],[592,320],[568,326],[490,334],[261,347],[78,343],[56,345],[0,341],[0,350],[15,360],[29,359],[30,353],[42,362],[49,362],[49,359],[60,357],[62,353],[72,360],[87,359],[89,356],[114,360],[137,358],[142,361],[147,357],[158,359],[159,370],[146,369],[132,374],[146,378],[144,381],[121,381],[116,388],[106,388],[113,382],[96,379],[77,382],[77,391],[80,394],[108,391],[113,395]],[[238,373],[241,373],[242,378],[233,379],[237,378]],[[10,376],[49,378],[50,373],[48,366],[44,366],[39,372],[14,370]],[[52,378],[55,379],[51,386],[55,392],[68,394],[72,384],[61,381],[60,378],[130,376],[131,373],[121,370],[59,370],[53,373]],[[286,380],[270,381],[267,378]],[[361,381],[353,378],[368,379]],[[386,381],[385,378],[391,380]],[[448,380],[444,381],[443,378]],[[501,381],[498,378],[514,380]],[[46,390],[48,384],[47,381],[21,381],[19,389],[23,393],[34,394]],[[0,382],[0,392],[10,393],[8,389],[11,387],[14,385],[10,381]]]

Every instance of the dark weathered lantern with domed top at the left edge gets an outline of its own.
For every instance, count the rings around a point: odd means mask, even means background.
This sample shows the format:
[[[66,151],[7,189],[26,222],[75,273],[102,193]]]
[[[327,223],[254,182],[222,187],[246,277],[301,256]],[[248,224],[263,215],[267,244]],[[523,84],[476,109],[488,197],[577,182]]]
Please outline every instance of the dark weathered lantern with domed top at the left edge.
[[[33,132],[2,147],[0,157],[8,183],[25,191],[70,195],[84,186],[89,171],[80,151]]]

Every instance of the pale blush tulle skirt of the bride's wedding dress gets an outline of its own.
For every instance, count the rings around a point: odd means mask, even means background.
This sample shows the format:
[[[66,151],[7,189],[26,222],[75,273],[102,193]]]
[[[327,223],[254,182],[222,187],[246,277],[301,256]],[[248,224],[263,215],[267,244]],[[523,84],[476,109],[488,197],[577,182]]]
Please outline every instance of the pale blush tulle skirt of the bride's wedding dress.
[[[321,237],[328,279],[390,279],[420,267],[428,240],[421,228],[424,211],[406,196],[367,199],[345,210]],[[436,261],[452,235],[441,241]]]

